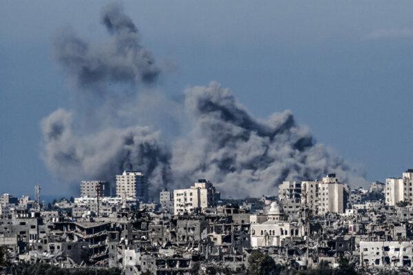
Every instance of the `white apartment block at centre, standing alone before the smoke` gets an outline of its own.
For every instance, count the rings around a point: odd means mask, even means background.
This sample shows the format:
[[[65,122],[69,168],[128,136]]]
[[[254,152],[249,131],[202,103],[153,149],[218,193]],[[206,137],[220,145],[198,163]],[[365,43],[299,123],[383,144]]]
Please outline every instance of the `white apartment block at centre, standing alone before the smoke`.
[[[219,199],[219,194],[211,182],[198,179],[198,182],[188,189],[173,190],[173,214],[191,213],[196,209],[213,207]]]

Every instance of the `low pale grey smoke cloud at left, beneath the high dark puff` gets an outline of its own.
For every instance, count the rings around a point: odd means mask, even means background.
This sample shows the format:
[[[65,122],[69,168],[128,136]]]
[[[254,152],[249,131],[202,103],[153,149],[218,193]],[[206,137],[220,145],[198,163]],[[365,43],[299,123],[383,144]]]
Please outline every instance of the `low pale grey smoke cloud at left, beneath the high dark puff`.
[[[131,126],[76,135],[72,125],[72,113],[63,109],[42,121],[43,159],[63,179],[113,181],[121,171],[136,169],[145,172],[151,179],[151,192],[156,192],[170,177],[171,155],[162,146],[158,132],[145,126]]]

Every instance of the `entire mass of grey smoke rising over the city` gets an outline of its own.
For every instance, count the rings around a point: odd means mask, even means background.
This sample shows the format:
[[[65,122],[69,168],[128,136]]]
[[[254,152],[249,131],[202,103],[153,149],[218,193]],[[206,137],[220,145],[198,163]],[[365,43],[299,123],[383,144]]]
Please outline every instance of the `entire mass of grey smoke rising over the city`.
[[[71,30],[54,40],[75,98],[83,98],[81,107],[58,109],[41,123],[43,159],[61,179],[113,182],[123,170],[141,170],[152,197],[162,187],[189,186],[198,178],[233,197],[271,194],[283,180],[326,173],[365,182],[357,167],[317,143],[290,111],[254,118],[218,83],[190,87],[184,102],[169,100],[153,89],[160,68],[122,7],[105,6],[101,23],[110,35],[104,45]],[[171,137],[168,127],[181,131]]]

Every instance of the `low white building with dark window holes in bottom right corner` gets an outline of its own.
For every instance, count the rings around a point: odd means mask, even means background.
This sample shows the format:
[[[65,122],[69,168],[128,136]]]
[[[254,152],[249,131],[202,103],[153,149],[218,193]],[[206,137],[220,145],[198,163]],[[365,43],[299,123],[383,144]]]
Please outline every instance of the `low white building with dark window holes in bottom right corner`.
[[[374,267],[411,266],[411,241],[361,241],[360,265]]]

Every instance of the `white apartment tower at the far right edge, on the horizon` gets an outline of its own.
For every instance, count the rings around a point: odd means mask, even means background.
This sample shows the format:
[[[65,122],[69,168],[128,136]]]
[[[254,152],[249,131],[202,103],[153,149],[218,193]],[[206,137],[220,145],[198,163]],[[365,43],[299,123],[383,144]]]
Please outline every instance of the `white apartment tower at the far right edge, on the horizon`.
[[[395,206],[399,201],[413,204],[413,169],[408,169],[401,178],[385,179],[385,204]]]

